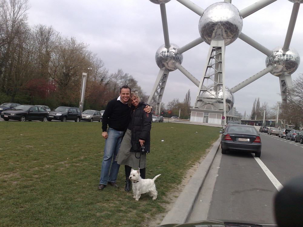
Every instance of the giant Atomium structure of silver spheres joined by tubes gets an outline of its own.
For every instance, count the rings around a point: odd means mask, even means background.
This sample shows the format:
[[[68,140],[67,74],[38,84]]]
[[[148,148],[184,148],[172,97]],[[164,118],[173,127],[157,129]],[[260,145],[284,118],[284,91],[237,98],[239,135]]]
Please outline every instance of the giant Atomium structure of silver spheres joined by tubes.
[[[200,37],[181,48],[169,41],[165,4],[170,2],[170,0],[150,1],[160,5],[165,43],[158,48],[155,54],[155,61],[160,71],[148,99],[148,103],[155,107],[156,113],[161,109],[161,99],[168,74],[177,69],[198,87],[195,106],[191,109],[192,122],[226,124],[227,113],[234,104],[233,94],[267,73],[279,78],[282,102],[286,102],[287,89],[292,87],[291,74],[296,71],[300,64],[299,54],[294,48],[290,47],[290,41],[300,3],[303,0],[288,0],[293,3],[293,9],[285,42],[283,46],[276,47],[273,50],[262,46],[243,34],[241,30],[243,18],[277,0],[259,0],[242,10],[238,10],[232,5],[231,0],[214,3],[205,10],[189,0],[176,0],[200,16],[198,21]],[[266,55],[265,69],[229,89],[225,86],[225,47],[237,38]],[[202,78],[198,80],[181,65],[183,60],[182,53],[203,42],[210,47]],[[221,119],[224,120],[222,121]]]

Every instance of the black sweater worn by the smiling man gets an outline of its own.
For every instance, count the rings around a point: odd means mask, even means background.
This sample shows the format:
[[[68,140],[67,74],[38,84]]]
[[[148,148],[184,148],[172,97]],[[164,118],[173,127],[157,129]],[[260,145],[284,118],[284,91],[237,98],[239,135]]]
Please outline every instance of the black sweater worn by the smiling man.
[[[117,98],[110,100],[102,115],[102,131],[107,131],[107,126],[117,131],[124,131],[127,127],[131,107],[123,104]]]

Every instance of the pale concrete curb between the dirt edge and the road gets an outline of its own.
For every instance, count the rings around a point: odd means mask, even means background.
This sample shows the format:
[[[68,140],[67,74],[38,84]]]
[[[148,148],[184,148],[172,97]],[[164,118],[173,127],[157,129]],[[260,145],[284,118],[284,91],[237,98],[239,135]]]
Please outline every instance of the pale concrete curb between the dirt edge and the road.
[[[211,150],[201,162],[199,168],[185,186],[180,196],[176,200],[173,208],[165,215],[161,225],[165,224],[183,224],[188,221],[191,212],[195,206],[195,201],[199,196],[205,178],[208,174],[210,166],[215,158],[221,143],[221,137],[213,144]]]

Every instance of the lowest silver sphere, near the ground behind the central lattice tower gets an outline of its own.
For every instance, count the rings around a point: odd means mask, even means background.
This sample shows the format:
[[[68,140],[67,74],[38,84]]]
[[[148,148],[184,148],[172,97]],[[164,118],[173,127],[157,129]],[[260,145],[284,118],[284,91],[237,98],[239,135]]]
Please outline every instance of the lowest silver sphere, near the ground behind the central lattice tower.
[[[206,88],[206,91],[204,91],[199,98],[202,98],[205,102],[204,107],[202,109],[213,109],[212,107],[218,107],[223,109],[223,86],[222,85],[210,85]],[[221,102],[218,102],[216,100],[221,100]],[[231,108],[234,106],[234,95],[229,90],[228,87],[225,86],[225,102],[226,102],[226,113],[231,110]],[[212,105],[209,105],[208,103],[211,103]],[[202,106],[203,106],[202,105]],[[211,107],[211,108],[209,108]]]

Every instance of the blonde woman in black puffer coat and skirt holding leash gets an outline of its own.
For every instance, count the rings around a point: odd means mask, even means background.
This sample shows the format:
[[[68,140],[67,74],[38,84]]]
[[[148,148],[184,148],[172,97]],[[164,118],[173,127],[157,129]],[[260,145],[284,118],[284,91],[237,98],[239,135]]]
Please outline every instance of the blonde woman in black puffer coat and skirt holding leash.
[[[132,93],[129,105],[133,105],[130,123],[121,142],[116,157],[119,165],[125,165],[125,191],[130,190],[131,181],[128,179],[131,169],[140,168],[140,176],[145,179],[146,153],[150,150],[150,130],[152,116],[143,109],[146,105],[140,98]],[[142,147],[144,151],[142,152]]]

